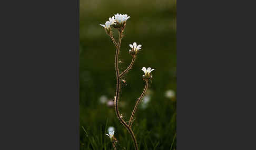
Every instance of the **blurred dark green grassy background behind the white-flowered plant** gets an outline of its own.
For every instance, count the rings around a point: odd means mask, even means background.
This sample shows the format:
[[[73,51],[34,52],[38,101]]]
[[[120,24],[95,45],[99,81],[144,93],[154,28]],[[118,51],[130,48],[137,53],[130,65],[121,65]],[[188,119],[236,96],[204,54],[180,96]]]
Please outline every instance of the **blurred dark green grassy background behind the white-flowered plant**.
[[[142,67],[151,67],[149,92],[135,114],[133,131],[140,149],[176,149],[176,1],[80,1],[80,149],[112,149],[105,135],[115,128],[117,149],[134,149],[130,134],[112,106],[116,77],[115,47],[105,24],[116,13],[131,16],[122,40],[120,70],[130,64],[129,44],[142,49],[122,84],[120,112],[128,121],[145,82]],[[117,32],[114,33],[117,38]]]

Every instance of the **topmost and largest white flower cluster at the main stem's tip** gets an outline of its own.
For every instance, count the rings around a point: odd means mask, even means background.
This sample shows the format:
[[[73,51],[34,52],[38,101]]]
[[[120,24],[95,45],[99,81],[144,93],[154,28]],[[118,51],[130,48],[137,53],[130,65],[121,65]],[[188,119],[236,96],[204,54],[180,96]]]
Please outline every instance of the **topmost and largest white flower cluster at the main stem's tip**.
[[[109,18],[109,21],[106,21],[105,25],[100,24],[103,26],[106,30],[107,34],[111,33],[111,25],[113,25],[114,28],[117,28],[120,32],[122,32],[126,25],[126,20],[129,19],[130,16],[127,14],[115,14],[113,17]]]

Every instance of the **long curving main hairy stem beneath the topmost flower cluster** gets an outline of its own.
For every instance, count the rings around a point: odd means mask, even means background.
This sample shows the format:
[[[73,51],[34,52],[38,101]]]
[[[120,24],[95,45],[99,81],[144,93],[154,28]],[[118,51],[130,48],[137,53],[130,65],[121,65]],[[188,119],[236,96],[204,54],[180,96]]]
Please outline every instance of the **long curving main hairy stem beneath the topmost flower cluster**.
[[[121,40],[122,40],[122,33],[119,33],[119,42],[118,45],[116,47],[116,53],[115,53],[115,72],[116,72],[116,93],[115,93],[115,113],[116,116],[118,117],[119,121],[122,123],[122,125],[128,130],[128,132],[131,134],[131,137],[133,139],[134,142],[134,147],[136,150],[138,150],[138,146],[137,146],[137,141],[135,138],[135,135],[131,129],[131,127],[129,127],[129,125],[127,125],[125,123],[125,121],[122,119],[119,109],[118,109],[118,100],[119,100],[119,92],[120,92],[120,77],[119,77],[119,68],[118,68],[118,55],[119,55],[119,51],[120,51],[120,46],[121,46]]]

